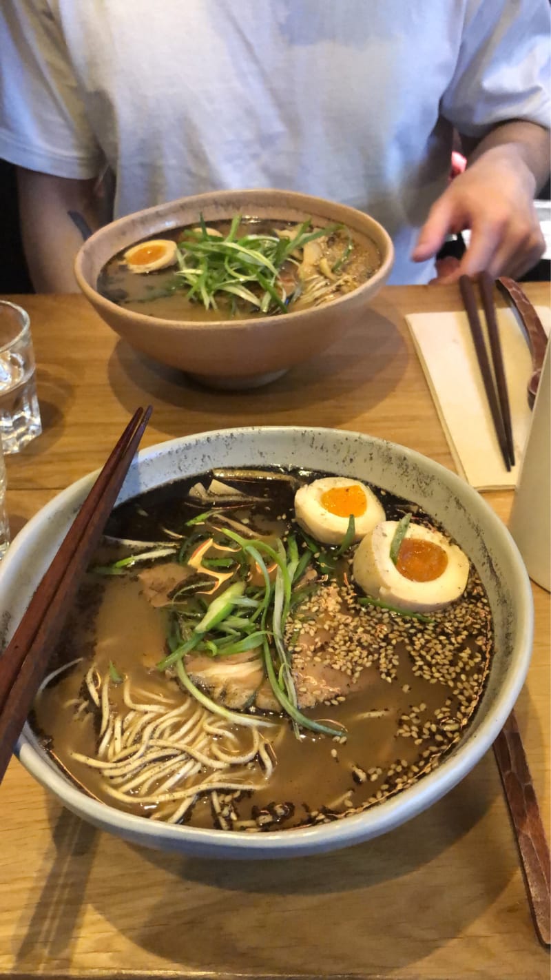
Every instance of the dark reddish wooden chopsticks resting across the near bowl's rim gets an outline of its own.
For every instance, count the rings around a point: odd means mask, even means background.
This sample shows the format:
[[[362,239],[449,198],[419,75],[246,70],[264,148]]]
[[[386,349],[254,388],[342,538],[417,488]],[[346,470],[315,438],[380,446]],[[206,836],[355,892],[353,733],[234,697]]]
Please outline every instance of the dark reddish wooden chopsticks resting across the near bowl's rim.
[[[0,656],[0,780],[151,413],[130,419]]]

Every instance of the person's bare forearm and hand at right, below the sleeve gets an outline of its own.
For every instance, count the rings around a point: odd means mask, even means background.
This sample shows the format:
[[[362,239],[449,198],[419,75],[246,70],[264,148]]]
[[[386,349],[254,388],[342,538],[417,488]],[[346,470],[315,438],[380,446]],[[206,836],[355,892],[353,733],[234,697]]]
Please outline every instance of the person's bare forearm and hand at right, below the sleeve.
[[[549,173],[549,130],[513,120],[471,140],[467,170],[436,200],[421,228],[413,259],[436,255],[450,232],[471,229],[471,241],[457,269],[442,277],[488,270],[496,277],[523,275],[539,259],[544,241],[533,197]]]

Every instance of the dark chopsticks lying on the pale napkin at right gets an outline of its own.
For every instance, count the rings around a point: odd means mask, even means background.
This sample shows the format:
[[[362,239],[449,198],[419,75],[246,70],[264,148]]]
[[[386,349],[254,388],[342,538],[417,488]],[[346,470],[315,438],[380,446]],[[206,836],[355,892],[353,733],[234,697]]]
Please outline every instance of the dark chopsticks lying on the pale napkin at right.
[[[515,449],[513,446],[513,429],[511,426],[511,409],[509,407],[509,395],[507,392],[507,381],[503,368],[503,355],[497,330],[497,320],[495,318],[495,307],[493,303],[493,280],[487,272],[482,272],[479,276],[479,288],[482,298],[482,308],[486,321],[487,337],[489,340],[489,350],[492,358],[492,368],[490,368],[486,344],[482,332],[482,324],[477,309],[477,299],[473,282],[468,275],[459,278],[459,288],[465,312],[469,319],[471,335],[477,352],[477,358],[482,373],[482,381],[486,393],[489,410],[493,420],[493,426],[503,462],[507,471],[515,466]]]

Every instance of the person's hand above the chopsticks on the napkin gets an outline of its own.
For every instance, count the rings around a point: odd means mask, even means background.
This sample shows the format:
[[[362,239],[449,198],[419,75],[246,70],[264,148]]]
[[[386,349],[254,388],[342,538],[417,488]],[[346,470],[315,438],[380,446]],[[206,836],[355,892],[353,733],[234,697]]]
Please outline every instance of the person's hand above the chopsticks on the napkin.
[[[522,157],[507,146],[487,150],[450,183],[421,228],[415,262],[436,255],[448,233],[471,229],[469,248],[438,282],[487,270],[493,278],[518,278],[535,265],[545,242],[533,206],[534,178]]]

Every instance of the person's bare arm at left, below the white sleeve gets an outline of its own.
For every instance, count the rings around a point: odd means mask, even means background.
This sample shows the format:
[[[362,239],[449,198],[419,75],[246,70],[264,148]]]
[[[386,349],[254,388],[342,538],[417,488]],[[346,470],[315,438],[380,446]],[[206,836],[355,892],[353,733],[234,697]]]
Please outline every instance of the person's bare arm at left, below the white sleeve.
[[[84,239],[84,225],[77,216],[92,231],[102,223],[96,180],[57,177],[23,167],[17,175],[23,249],[34,289],[76,292],[72,266]]]

